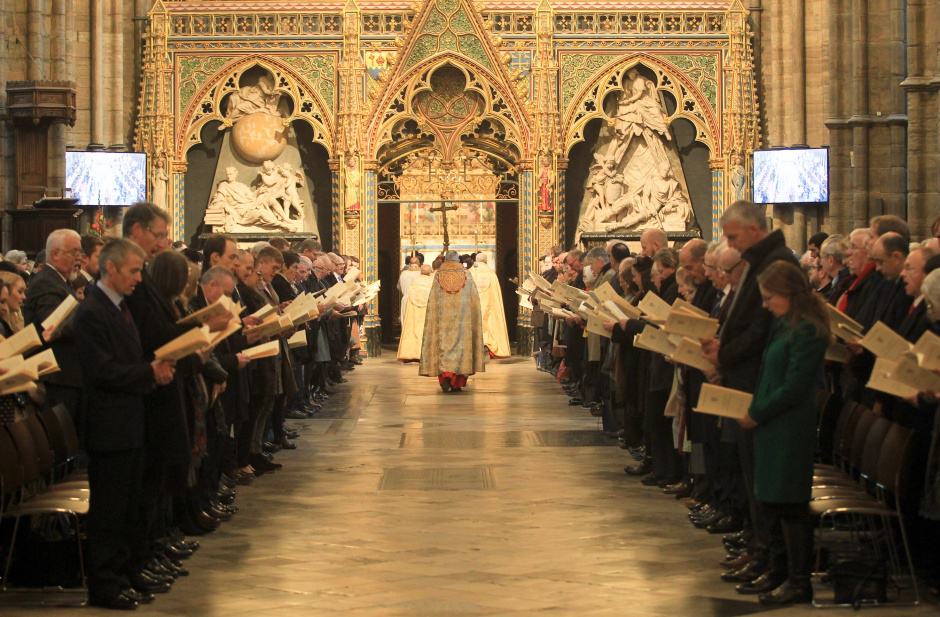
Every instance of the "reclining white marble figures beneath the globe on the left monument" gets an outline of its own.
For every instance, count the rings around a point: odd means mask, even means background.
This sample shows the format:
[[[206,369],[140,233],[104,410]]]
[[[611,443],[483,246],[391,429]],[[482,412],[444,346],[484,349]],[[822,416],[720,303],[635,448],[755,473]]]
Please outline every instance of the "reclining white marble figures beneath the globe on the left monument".
[[[205,222],[219,233],[253,233],[303,230],[304,203],[298,186],[303,172],[289,164],[265,161],[254,186],[238,180],[238,170],[228,167],[206,209]]]

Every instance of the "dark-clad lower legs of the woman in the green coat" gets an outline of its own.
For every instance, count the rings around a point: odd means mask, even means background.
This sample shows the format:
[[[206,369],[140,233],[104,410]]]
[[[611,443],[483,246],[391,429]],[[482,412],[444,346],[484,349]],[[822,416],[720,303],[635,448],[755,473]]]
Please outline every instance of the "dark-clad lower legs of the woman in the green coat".
[[[813,521],[807,503],[759,502],[759,535],[767,547],[770,568],[791,582],[809,584],[813,555]]]

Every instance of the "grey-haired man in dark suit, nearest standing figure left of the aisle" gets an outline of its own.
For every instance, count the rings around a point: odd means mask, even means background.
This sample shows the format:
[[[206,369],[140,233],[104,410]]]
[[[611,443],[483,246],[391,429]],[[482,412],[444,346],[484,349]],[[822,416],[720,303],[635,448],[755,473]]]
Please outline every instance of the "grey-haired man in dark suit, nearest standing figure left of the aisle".
[[[132,550],[140,531],[144,397],[173,380],[168,362],[144,359],[125,297],[140,283],[144,252],[129,240],[101,251],[101,280],[74,316],[77,358],[88,400],[88,597],[95,606],[132,609],[153,599],[135,590]]]

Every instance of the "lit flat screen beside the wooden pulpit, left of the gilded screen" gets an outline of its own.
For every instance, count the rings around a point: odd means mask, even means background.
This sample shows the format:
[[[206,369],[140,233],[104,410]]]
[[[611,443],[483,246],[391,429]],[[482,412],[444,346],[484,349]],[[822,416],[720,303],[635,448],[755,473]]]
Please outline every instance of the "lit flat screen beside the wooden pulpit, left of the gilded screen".
[[[142,152],[66,152],[65,186],[82,206],[129,206],[147,199]]]

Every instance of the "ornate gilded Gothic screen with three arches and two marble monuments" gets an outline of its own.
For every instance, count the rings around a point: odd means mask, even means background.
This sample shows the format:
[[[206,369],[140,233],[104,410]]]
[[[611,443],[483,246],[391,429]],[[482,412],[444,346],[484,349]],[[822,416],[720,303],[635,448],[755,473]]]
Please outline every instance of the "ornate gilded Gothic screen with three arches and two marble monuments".
[[[385,280],[463,203],[455,246],[507,280],[558,243],[711,237],[759,140],[747,24],[740,0],[157,0],[135,147],[176,238],[316,233]]]

